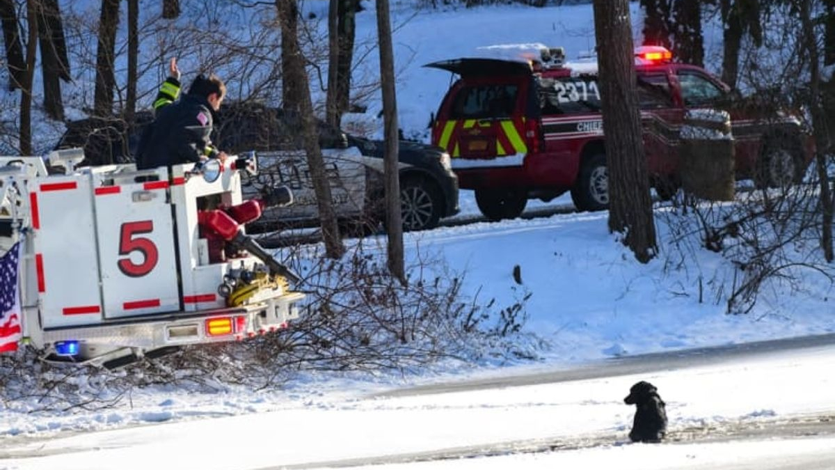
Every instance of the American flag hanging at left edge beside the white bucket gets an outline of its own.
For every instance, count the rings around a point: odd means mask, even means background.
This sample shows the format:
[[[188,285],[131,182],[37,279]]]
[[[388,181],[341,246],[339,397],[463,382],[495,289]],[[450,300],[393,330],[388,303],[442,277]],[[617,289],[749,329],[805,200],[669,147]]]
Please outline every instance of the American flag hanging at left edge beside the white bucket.
[[[23,337],[18,294],[19,259],[20,242],[0,258],[0,352],[18,350],[18,340]]]

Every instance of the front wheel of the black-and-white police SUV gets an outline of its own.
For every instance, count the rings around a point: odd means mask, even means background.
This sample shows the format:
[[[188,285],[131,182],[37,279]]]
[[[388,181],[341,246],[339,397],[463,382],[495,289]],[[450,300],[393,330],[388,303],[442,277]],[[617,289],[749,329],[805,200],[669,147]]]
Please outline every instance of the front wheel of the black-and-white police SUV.
[[[438,227],[443,198],[431,180],[407,176],[400,181],[400,216],[403,230],[426,230]]]

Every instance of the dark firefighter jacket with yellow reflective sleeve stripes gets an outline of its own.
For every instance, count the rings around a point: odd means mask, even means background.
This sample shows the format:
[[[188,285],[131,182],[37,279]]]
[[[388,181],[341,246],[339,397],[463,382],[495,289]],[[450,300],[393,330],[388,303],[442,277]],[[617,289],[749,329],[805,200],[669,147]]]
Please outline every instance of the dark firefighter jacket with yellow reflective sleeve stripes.
[[[215,156],[210,140],[215,111],[199,95],[186,94],[174,101],[179,94],[180,83],[172,78],[165,80],[154,101],[154,122],[144,130],[139,143],[136,166],[140,170]]]

